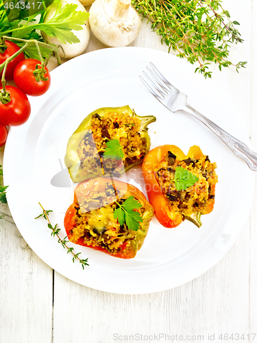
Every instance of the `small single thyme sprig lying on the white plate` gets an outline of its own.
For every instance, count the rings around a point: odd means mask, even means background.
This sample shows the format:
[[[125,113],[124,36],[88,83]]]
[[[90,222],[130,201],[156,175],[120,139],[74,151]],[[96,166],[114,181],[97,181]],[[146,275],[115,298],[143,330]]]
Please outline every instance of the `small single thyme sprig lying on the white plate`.
[[[40,204],[40,202],[38,202],[38,204]],[[49,216],[49,213],[51,213],[51,212],[53,212],[53,211],[51,211],[51,210],[45,210],[41,204],[40,204],[40,206],[41,206],[41,208],[42,208],[42,213],[41,213],[40,215],[38,215],[38,217],[36,217],[35,219],[38,219],[39,217],[44,217],[45,220],[47,220],[47,222],[48,222],[48,227],[52,230],[51,236],[53,236],[53,237],[57,236],[57,237],[58,237],[58,243],[62,244],[62,247],[63,247],[63,248],[66,248],[66,249],[67,249],[67,254],[69,254],[69,252],[71,252],[71,254],[73,255],[73,258],[72,258],[73,263],[75,262],[75,259],[77,259],[77,260],[79,261],[79,263],[81,263],[82,268],[84,269],[84,267],[85,267],[86,265],[89,265],[89,264],[87,263],[87,262],[88,262],[88,259],[80,259],[80,258],[79,258],[79,255],[81,254],[81,252],[77,252],[77,254],[75,254],[75,253],[73,252],[74,248],[72,248],[72,247],[69,248],[69,246],[66,245],[66,244],[69,242],[69,240],[67,239],[68,237],[66,236],[66,237],[64,237],[64,239],[61,239],[60,236],[59,236],[59,232],[60,232],[61,229],[57,227],[58,224],[56,224],[55,226],[52,226],[52,225],[51,225],[51,222],[50,222],[50,220],[49,220],[49,217],[48,217],[48,216]]]

